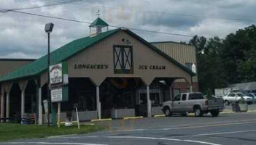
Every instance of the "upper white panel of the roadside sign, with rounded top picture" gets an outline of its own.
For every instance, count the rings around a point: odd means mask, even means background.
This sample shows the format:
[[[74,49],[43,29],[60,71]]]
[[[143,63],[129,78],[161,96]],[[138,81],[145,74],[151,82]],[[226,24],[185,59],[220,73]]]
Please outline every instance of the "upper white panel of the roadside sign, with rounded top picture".
[[[62,64],[50,66],[50,84],[62,83]]]

